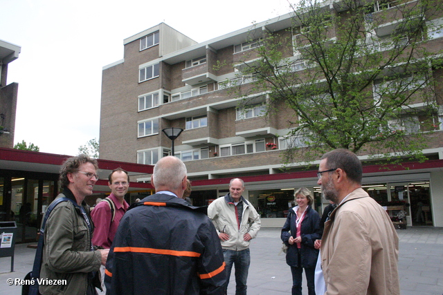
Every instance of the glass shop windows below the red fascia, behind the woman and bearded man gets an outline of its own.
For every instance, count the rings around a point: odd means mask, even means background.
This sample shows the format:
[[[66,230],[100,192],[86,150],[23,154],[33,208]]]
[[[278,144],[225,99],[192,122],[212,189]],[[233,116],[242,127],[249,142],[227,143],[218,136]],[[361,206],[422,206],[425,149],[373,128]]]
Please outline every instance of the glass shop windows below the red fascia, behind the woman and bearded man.
[[[363,177],[362,188],[368,192],[391,216],[392,221],[399,222],[404,218],[406,226],[433,226],[430,173],[412,173],[406,175],[380,175]],[[377,178],[392,182],[372,182]],[[406,181],[398,182],[399,179]],[[295,206],[293,193],[300,187],[307,187],[314,196],[313,208],[318,213],[329,204],[321,195],[318,185],[306,179],[289,187],[289,184],[248,184],[248,199],[260,213],[262,223],[266,225],[283,225],[281,218],[286,218],[288,209]],[[274,185],[275,188],[269,188]],[[262,188],[268,187],[268,188]],[[401,212],[400,211],[404,211]],[[279,220],[280,219],[280,220]]]

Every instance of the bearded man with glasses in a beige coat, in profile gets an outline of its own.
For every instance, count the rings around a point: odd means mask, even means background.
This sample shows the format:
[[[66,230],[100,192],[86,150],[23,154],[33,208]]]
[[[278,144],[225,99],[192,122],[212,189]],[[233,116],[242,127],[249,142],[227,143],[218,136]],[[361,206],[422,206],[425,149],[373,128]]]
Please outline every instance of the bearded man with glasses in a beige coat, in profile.
[[[317,174],[323,196],[338,205],[320,248],[325,294],[400,294],[399,238],[386,211],[361,188],[359,158],[346,149],[329,151]]]

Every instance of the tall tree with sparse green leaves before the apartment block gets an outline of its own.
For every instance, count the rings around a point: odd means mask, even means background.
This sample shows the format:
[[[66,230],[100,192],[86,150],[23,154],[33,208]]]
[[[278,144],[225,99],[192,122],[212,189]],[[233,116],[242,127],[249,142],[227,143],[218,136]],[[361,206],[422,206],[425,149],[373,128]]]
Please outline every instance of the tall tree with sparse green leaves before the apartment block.
[[[440,0],[301,1],[289,30],[262,39],[251,30],[260,44],[228,83],[242,104],[253,93],[269,95],[268,117],[293,111],[286,163],[337,148],[390,162],[425,160],[426,137],[439,125],[434,90],[443,64],[441,46],[426,41],[441,30],[430,20],[442,11]]]

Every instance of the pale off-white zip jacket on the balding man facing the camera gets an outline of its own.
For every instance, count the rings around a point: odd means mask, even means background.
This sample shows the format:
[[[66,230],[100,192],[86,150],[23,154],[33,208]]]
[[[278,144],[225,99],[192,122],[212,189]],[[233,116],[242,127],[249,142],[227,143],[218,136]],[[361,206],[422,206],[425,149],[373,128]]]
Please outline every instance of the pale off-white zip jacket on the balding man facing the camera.
[[[237,211],[230,193],[224,198],[213,201],[208,207],[208,217],[213,220],[217,234],[223,232],[229,235],[228,240],[220,240],[223,249],[234,251],[248,249],[249,241],[246,242],[243,236],[250,234],[251,238],[255,238],[260,230],[261,221],[257,211],[243,196],[241,200],[243,202],[241,214]]]

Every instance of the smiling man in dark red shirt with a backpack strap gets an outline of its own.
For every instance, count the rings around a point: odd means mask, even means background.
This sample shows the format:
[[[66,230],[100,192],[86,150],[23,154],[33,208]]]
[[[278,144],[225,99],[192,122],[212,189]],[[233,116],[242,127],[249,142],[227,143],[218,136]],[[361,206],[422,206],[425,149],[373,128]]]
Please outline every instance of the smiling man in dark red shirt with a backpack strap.
[[[105,200],[99,202],[91,211],[91,218],[94,225],[96,225],[92,242],[94,246],[103,249],[111,248],[120,220],[129,207],[129,204],[125,201],[125,195],[129,189],[129,175],[127,175],[127,171],[121,168],[114,169],[109,174],[108,180],[111,194]],[[105,288],[103,283],[105,266],[100,267],[100,273],[102,274],[102,288]]]

